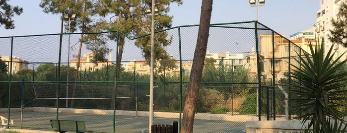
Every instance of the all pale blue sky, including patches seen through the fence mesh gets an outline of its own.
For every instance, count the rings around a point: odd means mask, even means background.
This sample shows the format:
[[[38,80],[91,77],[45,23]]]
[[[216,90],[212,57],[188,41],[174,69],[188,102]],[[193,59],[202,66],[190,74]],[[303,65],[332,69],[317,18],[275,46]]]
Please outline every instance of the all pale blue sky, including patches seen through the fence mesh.
[[[23,13],[19,16],[15,15],[13,17],[15,29],[6,30],[4,29],[4,26],[0,26],[0,37],[60,33],[61,15],[44,13],[42,11],[43,9],[39,6],[40,1],[41,0],[9,0],[9,4],[23,7]],[[202,1],[182,1],[182,5],[178,6],[177,3],[171,3],[170,5],[169,15],[173,16],[172,27],[199,24]],[[291,34],[310,29],[313,24],[316,24],[316,16],[319,8],[320,0],[266,0],[265,6],[259,6],[258,21],[275,30],[277,33],[289,38]],[[253,21],[257,18],[256,12],[257,8],[251,7],[249,0],[213,0],[210,23],[216,24]],[[105,19],[110,20],[109,17],[106,17]],[[195,33],[189,34],[193,35]],[[244,32],[242,34],[247,33]],[[213,38],[213,35],[224,37],[224,39],[218,39],[216,36]],[[32,40],[30,40],[30,38],[16,38],[17,40],[15,40],[13,56],[20,57],[29,62],[58,62],[59,51],[57,51],[57,49],[59,49],[59,45],[54,45],[58,43],[57,41],[54,41],[57,39],[54,37],[57,36],[46,36],[43,40],[38,40],[38,38],[32,38]],[[193,39],[194,37],[187,37],[185,39],[182,37],[182,43],[185,44],[182,46],[183,60],[190,60],[193,58],[193,52],[195,49],[194,44],[196,44],[196,39]],[[227,39],[228,41],[226,41]],[[237,34],[215,34],[213,31],[210,31],[208,41],[210,43],[208,46],[208,52],[210,53],[230,52],[245,54],[251,51],[250,45],[254,45],[249,42],[251,41],[249,38],[245,39]],[[74,38],[71,36],[71,51],[70,54],[68,54],[68,39],[63,38],[63,62],[69,62],[69,59],[76,58],[76,55],[78,55],[78,45],[76,44],[78,42],[78,36],[75,36]],[[47,43],[50,44],[49,47],[47,47]],[[177,44],[177,42],[172,42],[172,44],[165,47],[165,49],[169,55],[173,55],[175,59],[179,59],[179,54],[177,52],[178,47],[175,44]],[[235,47],[233,44],[240,45]],[[113,44],[110,43],[108,45],[112,46]],[[126,46],[127,47],[124,48],[122,61],[144,60],[141,54],[142,51],[138,47],[135,45]],[[115,47],[112,47],[111,49],[111,61],[115,61],[117,50],[115,50]],[[2,46],[0,49],[0,55],[9,56],[9,52],[10,47]],[[83,55],[88,52],[90,51],[83,48],[81,54]],[[108,58],[109,56],[105,58]]]

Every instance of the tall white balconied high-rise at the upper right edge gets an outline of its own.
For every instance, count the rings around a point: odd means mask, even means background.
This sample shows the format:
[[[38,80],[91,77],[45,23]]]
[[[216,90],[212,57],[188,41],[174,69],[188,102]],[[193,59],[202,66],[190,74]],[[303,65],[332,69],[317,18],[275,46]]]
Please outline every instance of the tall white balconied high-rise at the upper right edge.
[[[331,29],[334,29],[334,27],[331,24],[331,19],[337,19],[336,14],[339,13],[339,7],[340,4],[343,2],[347,2],[347,0],[320,0],[321,1],[321,8],[317,11],[317,23],[315,24],[316,27],[316,34],[321,39],[324,37],[324,44],[325,44],[325,53],[328,52],[329,48],[332,46],[332,42],[329,41],[328,36],[330,35]],[[336,57],[341,56],[345,51],[347,51],[347,48],[342,46],[341,44],[335,44],[334,50],[336,50]],[[335,57],[335,58],[336,58]],[[347,55],[343,56],[341,60],[345,60],[347,58]]]

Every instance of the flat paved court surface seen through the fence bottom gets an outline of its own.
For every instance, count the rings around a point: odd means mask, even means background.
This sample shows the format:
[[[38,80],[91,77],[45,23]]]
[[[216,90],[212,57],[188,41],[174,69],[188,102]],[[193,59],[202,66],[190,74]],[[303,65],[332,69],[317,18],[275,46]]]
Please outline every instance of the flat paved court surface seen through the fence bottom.
[[[0,113],[1,116],[7,117],[7,113]],[[20,112],[11,112],[11,119],[14,121],[14,129],[20,126]],[[23,127],[35,127],[31,130],[44,130],[47,132],[34,133],[52,133],[50,120],[57,119],[54,112],[23,112]],[[77,114],[77,113],[59,113],[59,119],[62,120],[83,120],[86,123],[86,129],[98,133],[113,132],[113,116],[99,114]],[[172,124],[179,121],[175,118],[158,118],[154,117],[154,124]],[[195,120],[194,133],[242,133],[245,129],[244,122],[230,121],[211,121]],[[51,132],[48,132],[51,131]],[[115,118],[116,133],[148,133],[148,117],[136,116],[116,116]],[[29,132],[25,132],[29,133]]]

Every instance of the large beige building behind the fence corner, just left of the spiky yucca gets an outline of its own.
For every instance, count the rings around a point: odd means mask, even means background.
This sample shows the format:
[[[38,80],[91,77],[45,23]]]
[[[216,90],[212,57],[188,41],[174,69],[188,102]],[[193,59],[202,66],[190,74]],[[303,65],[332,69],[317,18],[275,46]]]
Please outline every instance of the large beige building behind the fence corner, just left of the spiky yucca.
[[[273,52],[273,35],[260,35],[260,68],[262,71],[262,76],[267,79],[273,77],[273,72],[275,77],[279,80],[284,77],[284,72],[288,71],[288,57],[297,55],[296,52],[300,53],[300,48],[303,51],[309,52],[309,43],[315,44],[315,40],[310,38],[301,37],[301,39],[290,40],[292,43],[289,43],[288,40],[285,40],[279,35],[275,35],[274,40],[274,49]],[[294,44],[296,45],[294,45]],[[290,44],[290,45],[289,45]],[[273,70],[272,59],[275,59],[275,70]],[[290,60],[291,64],[298,65],[294,59]],[[250,55],[246,56],[245,67],[250,69],[250,73],[258,73],[257,71],[257,55],[255,47],[252,47],[252,52]]]

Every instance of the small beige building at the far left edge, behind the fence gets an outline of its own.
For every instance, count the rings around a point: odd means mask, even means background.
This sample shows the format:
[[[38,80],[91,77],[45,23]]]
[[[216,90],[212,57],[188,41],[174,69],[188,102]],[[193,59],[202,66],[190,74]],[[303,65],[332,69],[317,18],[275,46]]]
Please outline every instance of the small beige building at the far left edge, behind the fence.
[[[28,61],[22,60],[19,57],[12,56],[12,69],[10,69],[11,59],[9,56],[0,56],[1,61],[7,65],[7,70],[12,70],[11,74],[16,73],[18,70],[28,68]]]

